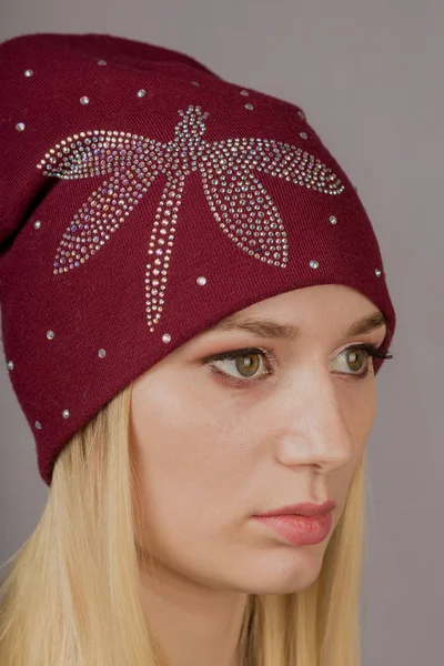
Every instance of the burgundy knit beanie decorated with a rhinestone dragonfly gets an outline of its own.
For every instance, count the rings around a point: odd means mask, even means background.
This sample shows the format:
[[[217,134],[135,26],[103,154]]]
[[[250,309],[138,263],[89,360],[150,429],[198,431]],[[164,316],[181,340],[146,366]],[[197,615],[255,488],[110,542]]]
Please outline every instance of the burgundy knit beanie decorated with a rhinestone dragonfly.
[[[0,90],[3,345],[48,485],[108,401],[253,303],[350,285],[387,349],[371,222],[300,108],[102,34],[4,42]]]

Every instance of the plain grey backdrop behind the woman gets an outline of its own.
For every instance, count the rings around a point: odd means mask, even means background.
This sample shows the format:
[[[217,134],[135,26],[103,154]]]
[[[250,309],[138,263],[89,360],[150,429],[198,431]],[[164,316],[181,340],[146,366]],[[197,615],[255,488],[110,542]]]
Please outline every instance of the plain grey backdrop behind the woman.
[[[442,663],[442,0],[0,1],[0,40],[59,31],[151,41],[299,103],[357,185],[397,311],[369,442],[363,666]],[[48,490],[4,360],[0,401],[2,563]]]

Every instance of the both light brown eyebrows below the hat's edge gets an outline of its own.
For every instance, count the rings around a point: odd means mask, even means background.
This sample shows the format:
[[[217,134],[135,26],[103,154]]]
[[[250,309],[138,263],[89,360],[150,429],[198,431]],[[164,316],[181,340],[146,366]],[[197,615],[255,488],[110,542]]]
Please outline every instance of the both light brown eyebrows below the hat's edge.
[[[389,321],[382,312],[372,312],[372,314],[354,322],[345,335],[350,337],[364,335],[383,325],[387,326],[387,324]],[[297,340],[301,335],[301,329],[294,324],[281,324],[268,319],[244,319],[243,315],[238,313],[232,314],[208,330],[209,333],[212,331],[248,331],[260,337],[276,337],[289,341]]]

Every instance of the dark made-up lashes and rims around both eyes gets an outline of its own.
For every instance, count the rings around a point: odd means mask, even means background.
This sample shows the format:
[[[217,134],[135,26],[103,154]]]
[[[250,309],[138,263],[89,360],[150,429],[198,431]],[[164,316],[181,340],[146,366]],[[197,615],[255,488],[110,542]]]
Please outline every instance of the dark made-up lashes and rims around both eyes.
[[[339,356],[341,356],[342,354],[346,354],[350,350],[363,350],[364,352],[367,353],[369,360],[371,357],[373,359],[393,359],[393,355],[387,353],[386,351],[381,350],[380,347],[377,347],[375,344],[369,342],[365,344],[352,344],[350,346],[347,346],[346,349],[342,350],[342,352],[339,354]],[[239,386],[239,387],[245,387],[245,384],[258,384],[259,382],[263,381],[266,376],[269,376],[271,374],[271,372],[266,372],[265,374],[263,374],[261,376],[261,379],[256,379],[256,380],[240,380],[238,377],[233,377],[231,375],[229,375],[228,373],[218,370],[214,365],[212,365],[212,363],[214,363],[215,361],[226,361],[226,360],[231,360],[234,361],[235,359],[238,359],[239,356],[250,356],[250,355],[261,355],[263,359],[265,359],[269,363],[269,365],[271,365],[272,369],[275,367],[275,359],[274,359],[274,354],[272,352],[270,352],[269,350],[263,350],[263,349],[259,349],[259,347],[249,347],[249,349],[243,349],[243,350],[231,350],[229,352],[222,352],[221,354],[213,354],[211,356],[206,356],[205,359],[203,359],[203,363],[204,365],[208,365],[210,367],[211,373],[214,373],[216,375],[222,375],[224,380],[226,380],[228,382]],[[365,380],[370,374],[372,373],[372,365],[367,362],[366,364],[366,369],[364,372],[361,373],[339,373],[341,376],[346,376],[346,377],[353,377],[356,380]]]

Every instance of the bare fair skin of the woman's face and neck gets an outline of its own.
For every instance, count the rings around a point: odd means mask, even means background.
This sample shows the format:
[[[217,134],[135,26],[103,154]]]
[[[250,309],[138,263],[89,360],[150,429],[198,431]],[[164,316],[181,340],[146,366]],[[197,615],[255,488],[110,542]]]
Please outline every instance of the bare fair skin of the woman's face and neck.
[[[319,576],[343,513],[376,411],[371,356],[350,364],[351,343],[380,346],[385,325],[347,337],[377,311],[361,293],[320,285],[280,294],[242,311],[292,323],[294,341],[251,332],[204,331],[133,385],[131,446],[148,555],[142,598],[171,666],[234,666],[249,593],[302,591]],[[210,354],[265,349],[214,365]],[[329,359],[331,359],[329,361]],[[271,374],[265,374],[271,371]],[[286,504],[334,500],[332,531],[315,545],[291,545],[254,521]]]

